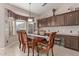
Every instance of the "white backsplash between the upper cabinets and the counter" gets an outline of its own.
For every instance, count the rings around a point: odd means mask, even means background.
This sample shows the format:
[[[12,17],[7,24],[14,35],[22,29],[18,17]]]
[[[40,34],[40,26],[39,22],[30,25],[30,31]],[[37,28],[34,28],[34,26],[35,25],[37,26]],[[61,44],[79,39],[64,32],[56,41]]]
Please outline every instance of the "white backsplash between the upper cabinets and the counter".
[[[43,27],[41,30],[45,30],[46,32],[57,32],[58,34],[65,35],[79,35],[79,25],[78,26],[59,26],[59,27]]]

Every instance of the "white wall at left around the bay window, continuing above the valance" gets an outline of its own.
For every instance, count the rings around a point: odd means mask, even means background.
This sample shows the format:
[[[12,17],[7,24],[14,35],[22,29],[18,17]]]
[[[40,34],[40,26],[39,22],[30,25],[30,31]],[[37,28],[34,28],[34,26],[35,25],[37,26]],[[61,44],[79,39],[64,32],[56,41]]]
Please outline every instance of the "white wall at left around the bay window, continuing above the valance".
[[[5,46],[8,46],[14,43],[15,41],[18,41],[17,35],[10,36],[10,37],[8,35],[9,34],[9,24],[8,24],[9,18],[7,17],[6,9],[10,9],[19,15],[29,16],[28,11],[25,11],[23,9],[17,8],[9,4],[0,3],[0,48],[4,48]],[[32,14],[32,16],[35,17],[36,15]]]

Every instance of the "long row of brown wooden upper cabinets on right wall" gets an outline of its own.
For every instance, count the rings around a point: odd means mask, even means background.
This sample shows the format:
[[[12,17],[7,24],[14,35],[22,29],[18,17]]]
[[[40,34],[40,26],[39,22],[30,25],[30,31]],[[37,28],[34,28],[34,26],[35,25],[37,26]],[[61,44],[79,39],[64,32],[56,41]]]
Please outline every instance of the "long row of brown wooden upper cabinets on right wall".
[[[43,18],[38,25],[41,27],[79,25],[79,10]]]

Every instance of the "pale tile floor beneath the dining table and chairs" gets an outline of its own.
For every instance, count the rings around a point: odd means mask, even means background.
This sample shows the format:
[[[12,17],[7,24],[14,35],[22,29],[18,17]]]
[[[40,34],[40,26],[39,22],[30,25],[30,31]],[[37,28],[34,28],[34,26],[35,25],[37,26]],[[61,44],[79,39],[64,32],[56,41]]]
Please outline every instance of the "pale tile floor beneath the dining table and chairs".
[[[51,56],[51,53],[49,53]],[[55,56],[79,56],[78,51],[74,51],[68,48],[64,48],[63,46],[54,45],[54,55]],[[15,44],[12,44],[11,46],[8,46],[6,48],[0,49],[0,56],[27,56],[26,53],[23,53],[18,48],[18,42]],[[30,56],[32,56],[32,53],[30,53]],[[35,56],[37,56],[37,53],[35,52]],[[41,53],[40,56],[46,56],[45,53]]]

